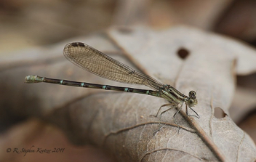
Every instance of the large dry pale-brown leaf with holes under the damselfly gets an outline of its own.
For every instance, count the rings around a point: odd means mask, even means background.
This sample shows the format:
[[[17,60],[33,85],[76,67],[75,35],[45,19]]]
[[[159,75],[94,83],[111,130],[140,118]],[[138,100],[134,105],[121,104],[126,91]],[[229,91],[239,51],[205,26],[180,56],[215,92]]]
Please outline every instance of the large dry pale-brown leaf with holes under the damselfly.
[[[164,84],[175,86],[186,95],[195,90],[199,100],[195,110],[201,118],[188,117],[182,110],[176,116],[181,127],[178,133],[172,118],[175,109],[150,118],[167,103],[161,98],[22,83],[25,76],[36,74],[124,86],[84,72],[58,57],[60,52],[57,54],[57,51],[61,51],[64,43],[35,50],[33,54],[44,58],[40,61],[36,57],[28,61],[31,57],[28,53],[20,60],[9,59],[1,65],[1,78],[4,79],[0,80],[0,85],[6,92],[1,94],[4,99],[1,104],[11,108],[13,113],[36,116],[59,126],[78,145],[92,143],[105,147],[119,161],[255,160],[254,142],[233,123],[228,112],[235,92],[236,73],[252,73],[256,69],[254,63],[244,64],[256,61],[255,49],[183,26],[167,31],[112,28],[76,41],[94,46]],[[181,58],[181,53],[188,56]],[[22,63],[15,66],[18,61]],[[215,108],[221,108],[225,117],[215,118]]]

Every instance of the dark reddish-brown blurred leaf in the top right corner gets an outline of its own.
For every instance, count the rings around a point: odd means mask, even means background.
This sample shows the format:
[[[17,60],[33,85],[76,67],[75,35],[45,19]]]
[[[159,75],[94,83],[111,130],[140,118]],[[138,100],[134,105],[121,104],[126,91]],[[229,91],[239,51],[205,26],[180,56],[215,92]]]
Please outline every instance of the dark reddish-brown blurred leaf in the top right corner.
[[[218,20],[215,31],[247,42],[255,41],[255,7],[255,1],[233,1]]]

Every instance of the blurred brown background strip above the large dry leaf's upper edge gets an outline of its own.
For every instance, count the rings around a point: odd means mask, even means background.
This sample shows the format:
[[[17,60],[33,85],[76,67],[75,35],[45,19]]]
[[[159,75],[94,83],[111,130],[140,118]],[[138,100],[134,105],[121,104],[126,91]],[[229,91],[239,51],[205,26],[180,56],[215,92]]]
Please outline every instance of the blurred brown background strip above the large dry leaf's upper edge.
[[[1,0],[0,49],[54,44],[112,25],[193,25],[256,45],[253,0]],[[13,46],[15,44],[15,46]]]

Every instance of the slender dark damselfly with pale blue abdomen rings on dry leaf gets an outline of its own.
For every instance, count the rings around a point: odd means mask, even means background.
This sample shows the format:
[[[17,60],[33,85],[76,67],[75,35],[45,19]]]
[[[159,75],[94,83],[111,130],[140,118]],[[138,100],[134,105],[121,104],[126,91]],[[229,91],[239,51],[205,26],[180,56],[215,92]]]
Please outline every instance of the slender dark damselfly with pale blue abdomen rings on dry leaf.
[[[114,91],[123,91],[123,92],[132,92],[138,94],[148,94],[155,97],[161,97],[169,101],[168,104],[162,105],[156,116],[159,115],[159,112],[164,106],[171,106],[171,108],[177,108],[177,112],[174,114],[174,119],[177,113],[180,112],[183,107],[183,103],[185,102],[186,108],[185,112],[187,116],[194,116],[188,114],[188,108],[193,110],[191,107],[197,104],[196,92],[189,92],[188,96],[180,93],[177,89],[170,86],[169,84],[162,84],[151,76],[147,76],[143,73],[140,73],[129,66],[124,65],[123,63],[114,60],[111,57],[108,57],[103,52],[98,51],[97,49],[88,46],[87,44],[83,44],[80,42],[67,44],[63,50],[64,56],[73,64],[83,68],[84,70],[89,71],[90,73],[94,73],[97,76],[102,78],[107,78],[112,81],[119,81],[125,84],[140,84],[150,87],[153,90],[148,89],[133,89],[128,87],[120,87],[120,86],[109,86],[102,84],[89,84],[78,81],[67,81],[60,80],[55,78],[46,78],[41,76],[26,76],[25,83],[49,83],[49,84],[61,84],[65,86],[80,86],[84,88],[92,88],[92,89],[105,89],[105,90],[114,90]],[[169,109],[171,109],[169,108]],[[167,110],[169,110],[167,109]],[[166,112],[164,110],[162,113]],[[196,113],[195,110],[193,110]],[[153,115],[151,115],[153,116]],[[156,117],[155,116],[155,117]],[[196,118],[200,118],[196,113]],[[175,123],[180,130],[180,126],[177,124],[175,119]]]

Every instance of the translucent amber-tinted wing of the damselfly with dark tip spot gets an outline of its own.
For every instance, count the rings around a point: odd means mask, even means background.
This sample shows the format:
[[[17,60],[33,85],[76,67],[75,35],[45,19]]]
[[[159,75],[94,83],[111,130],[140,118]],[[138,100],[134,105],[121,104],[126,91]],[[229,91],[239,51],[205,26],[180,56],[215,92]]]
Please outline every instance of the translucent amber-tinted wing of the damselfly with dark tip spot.
[[[102,78],[125,84],[145,85],[155,90],[159,90],[160,87],[164,86],[164,84],[151,78],[151,76],[133,70],[129,66],[84,43],[67,44],[63,54],[73,64]]]

